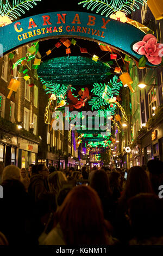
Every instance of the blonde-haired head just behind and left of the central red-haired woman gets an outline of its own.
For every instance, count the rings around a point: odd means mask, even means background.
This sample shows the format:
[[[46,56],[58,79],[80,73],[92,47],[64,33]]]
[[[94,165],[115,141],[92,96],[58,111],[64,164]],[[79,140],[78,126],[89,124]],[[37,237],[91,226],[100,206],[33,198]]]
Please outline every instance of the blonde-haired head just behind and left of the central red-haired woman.
[[[60,171],[53,172],[48,176],[49,189],[55,194],[59,193],[60,189],[66,182],[66,176]]]

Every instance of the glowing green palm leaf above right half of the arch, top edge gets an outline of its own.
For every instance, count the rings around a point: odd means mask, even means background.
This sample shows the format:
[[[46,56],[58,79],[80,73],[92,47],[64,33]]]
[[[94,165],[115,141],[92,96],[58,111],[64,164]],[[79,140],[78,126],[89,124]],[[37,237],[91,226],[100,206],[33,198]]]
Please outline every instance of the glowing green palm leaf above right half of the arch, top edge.
[[[85,0],[78,4],[83,4],[86,9],[93,11],[96,9],[96,13],[101,13],[108,17],[116,11],[123,11],[126,14],[130,14],[131,11],[135,11],[135,8],[139,9],[139,4],[143,5],[147,3],[146,0]]]

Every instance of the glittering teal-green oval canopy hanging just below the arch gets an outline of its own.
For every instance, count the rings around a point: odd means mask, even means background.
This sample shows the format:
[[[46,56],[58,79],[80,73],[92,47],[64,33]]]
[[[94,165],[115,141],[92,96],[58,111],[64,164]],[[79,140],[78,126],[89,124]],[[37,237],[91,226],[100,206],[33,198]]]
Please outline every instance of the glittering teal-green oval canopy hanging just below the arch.
[[[87,57],[67,56],[46,60],[39,66],[37,74],[48,82],[83,86],[103,81],[108,77],[108,72],[110,68],[102,62]]]

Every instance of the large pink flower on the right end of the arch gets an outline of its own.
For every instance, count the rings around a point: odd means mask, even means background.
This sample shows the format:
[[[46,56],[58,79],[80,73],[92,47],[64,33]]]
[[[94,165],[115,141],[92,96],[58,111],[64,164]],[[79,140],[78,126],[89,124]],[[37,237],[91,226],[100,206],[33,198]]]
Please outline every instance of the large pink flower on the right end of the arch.
[[[159,52],[163,48],[160,47],[161,44],[157,43],[157,39],[152,34],[147,34],[144,36],[142,41],[136,42],[133,45],[133,50],[140,55],[145,55],[148,59],[148,62],[159,65],[162,58],[159,56]]]

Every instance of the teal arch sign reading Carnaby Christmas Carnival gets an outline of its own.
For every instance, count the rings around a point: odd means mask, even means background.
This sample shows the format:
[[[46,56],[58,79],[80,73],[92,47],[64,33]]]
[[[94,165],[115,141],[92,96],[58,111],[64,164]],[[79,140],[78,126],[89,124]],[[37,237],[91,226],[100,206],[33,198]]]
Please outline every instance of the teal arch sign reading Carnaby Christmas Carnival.
[[[3,48],[5,54],[18,46],[39,39],[74,36],[104,42],[128,53],[133,58],[140,59],[142,56],[134,52],[132,46],[144,35],[142,31],[128,23],[108,19],[105,16],[62,11],[27,17],[1,27],[0,43],[3,47],[0,47],[0,51]]]

